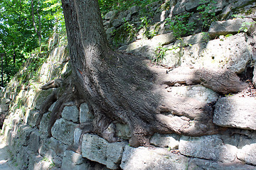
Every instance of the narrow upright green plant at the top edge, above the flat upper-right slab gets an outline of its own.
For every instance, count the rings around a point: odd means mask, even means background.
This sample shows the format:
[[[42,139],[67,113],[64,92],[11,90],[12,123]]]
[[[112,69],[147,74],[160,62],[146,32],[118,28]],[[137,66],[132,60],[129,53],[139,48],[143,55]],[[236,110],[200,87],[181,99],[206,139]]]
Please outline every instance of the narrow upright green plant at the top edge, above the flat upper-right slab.
[[[215,4],[217,4],[215,0],[200,0],[200,6],[198,6],[197,10],[200,11],[199,13],[202,15],[202,31],[207,30],[213,21],[217,21],[217,18],[215,16],[215,11],[217,7],[215,6]]]

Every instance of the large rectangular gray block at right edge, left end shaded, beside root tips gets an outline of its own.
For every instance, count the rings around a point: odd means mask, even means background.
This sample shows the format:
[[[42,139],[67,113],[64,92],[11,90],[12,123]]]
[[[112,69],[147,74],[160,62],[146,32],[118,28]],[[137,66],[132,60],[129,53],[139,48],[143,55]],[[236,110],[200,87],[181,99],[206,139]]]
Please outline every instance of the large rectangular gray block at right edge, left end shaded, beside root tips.
[[[220,98],[215,105],[213,123],[223,127],[256,130],[255,106],[255,98]]]

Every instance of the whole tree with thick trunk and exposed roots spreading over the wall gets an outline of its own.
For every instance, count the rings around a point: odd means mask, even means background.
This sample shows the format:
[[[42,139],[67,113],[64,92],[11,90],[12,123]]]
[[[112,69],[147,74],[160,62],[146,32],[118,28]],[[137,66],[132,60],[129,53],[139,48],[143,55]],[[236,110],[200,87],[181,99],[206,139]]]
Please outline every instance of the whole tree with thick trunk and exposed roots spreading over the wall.
[[[50,113],[49,137],[68,101],[77,106],[86,101],[95,114],[93,132],[109,142],[117,140],[108,130],[111,123],[129,125],[133,147],[149,145],[155,132],[199,136],[220,130],[213,124],[212,104],[174,98],[166,87],[177,82],[203,84],[227,94],[245,87],[234,72],[184,69],[182,77],[176,75],[180,72],[166,72],[143,57],[111,50],[97,0],[62,0],[62,6],[73,75],[41,105],[36,125],[56,101]]]

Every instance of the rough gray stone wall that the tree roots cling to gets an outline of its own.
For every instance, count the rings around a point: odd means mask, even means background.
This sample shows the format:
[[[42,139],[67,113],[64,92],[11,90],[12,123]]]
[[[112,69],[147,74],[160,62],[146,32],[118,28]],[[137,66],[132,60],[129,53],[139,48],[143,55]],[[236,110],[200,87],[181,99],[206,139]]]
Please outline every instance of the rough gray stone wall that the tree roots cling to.
[[[48,60],[38,69],[38,78],[32,79],[36,75],[30,75],[24,83],[19,79],[26,70],[24,67],[1,91],[1,113],[6,115],[3,132],[18,169],[256,169],[256,101],[252,84],[230,94],[218,87],[183,81],[190,75],[186,71],[228,69],[242,81],[251,79],[256,84],[255,1],[218,1],[215,5],[223,21],[212,23],[207,32],[200,33],[197,29],[178,40],[165,28],[164,19],[184,11],[193,12],[196,17],[199,4],[198,1],[167,2],[148,6],[156,11],[151,28],[160,26],[159,35],[148,39],[142,30],[132,39],[134,42],[125,40],[119,50],[152,58],[159,43],[169,49],[161,64],[166,67],[166,74],[174,77],[174,83],[166,90],[178,100],[172,103],[176,115],[166,115],[166,121],[180,123],[178,128],[215,127],[215,135],[192,137],[156,133],[151,137],[151,147],[134,148],[128,145],[129,127],[112,123],[109,131],[114,132],[119,142],[110,143],[91,133],[94,114],[87,103],[79,107],[66,103],[61,118],[53,125],[53,136],[48,138],[48,120],[55,103],[36,128],[38,109],[52,92],[52,89],[41,90],[39,86],[70,74],[66,47],[58,35],[54,35],[46,54]],[[113,40],[112,30],[122,26],[122,18],[137,22],[140,10],[134,6],[122,13],[107,13],[104,23],[108,38]],[[231,19],[233,13],[245,18]],[[245,23],[251,23],[247,31],[240,29]],[[175,50],[174,45],[178,47]],[[213,114],[203,115],[206,112],[199,106],[212,107]],[[210,122],[205,123],[204,118],[210,118]]]

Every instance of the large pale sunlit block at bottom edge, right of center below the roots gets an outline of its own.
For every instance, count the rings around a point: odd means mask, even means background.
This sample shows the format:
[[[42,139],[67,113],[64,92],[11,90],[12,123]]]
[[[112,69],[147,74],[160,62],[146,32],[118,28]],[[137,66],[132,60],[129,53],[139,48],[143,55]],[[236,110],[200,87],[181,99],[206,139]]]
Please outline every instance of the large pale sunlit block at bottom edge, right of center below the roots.
[[[124,170],[186,169],[187,162],[188,158],[172,154],[167,149],[126,146],[120,167]]]

